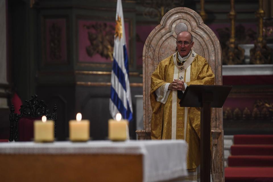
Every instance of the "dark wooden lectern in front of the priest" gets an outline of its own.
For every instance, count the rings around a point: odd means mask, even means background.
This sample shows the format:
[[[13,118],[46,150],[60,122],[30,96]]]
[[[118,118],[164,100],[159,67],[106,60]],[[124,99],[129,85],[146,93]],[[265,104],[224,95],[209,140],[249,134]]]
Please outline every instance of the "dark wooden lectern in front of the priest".
[[[224,85],[190,85],[184,94],[178,91],[180,107],[201,107],[200,136],[200,181],[210,182],[210,110],[222,107],[232,86]]]

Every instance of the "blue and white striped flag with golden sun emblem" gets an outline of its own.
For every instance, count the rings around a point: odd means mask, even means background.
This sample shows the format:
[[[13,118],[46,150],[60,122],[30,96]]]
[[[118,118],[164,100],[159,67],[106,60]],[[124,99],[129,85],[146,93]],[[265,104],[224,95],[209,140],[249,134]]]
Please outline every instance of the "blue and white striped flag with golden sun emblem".
[[[121,113],[123,119],[131,121],[133,119],[133,107],[121,0],[117,0],[113,58],[111,98],[109,103],[110,114],[115,118],[117,113]]]

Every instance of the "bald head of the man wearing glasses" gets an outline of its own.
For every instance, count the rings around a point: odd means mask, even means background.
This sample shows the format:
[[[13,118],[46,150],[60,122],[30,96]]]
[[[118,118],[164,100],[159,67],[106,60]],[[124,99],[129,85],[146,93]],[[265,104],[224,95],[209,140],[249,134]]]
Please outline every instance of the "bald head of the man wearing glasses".
[[[193,44],[193,36],[190,32],[180,32],[176,37],[176,47],[181,57],[185,57],[190,53]]]

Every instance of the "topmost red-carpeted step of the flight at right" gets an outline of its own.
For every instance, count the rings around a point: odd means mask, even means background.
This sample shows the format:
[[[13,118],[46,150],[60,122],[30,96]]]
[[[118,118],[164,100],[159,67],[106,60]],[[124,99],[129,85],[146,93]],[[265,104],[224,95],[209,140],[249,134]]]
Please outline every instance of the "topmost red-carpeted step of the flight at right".
[[[273,135],[234,135],[234,144],[273,144]]]

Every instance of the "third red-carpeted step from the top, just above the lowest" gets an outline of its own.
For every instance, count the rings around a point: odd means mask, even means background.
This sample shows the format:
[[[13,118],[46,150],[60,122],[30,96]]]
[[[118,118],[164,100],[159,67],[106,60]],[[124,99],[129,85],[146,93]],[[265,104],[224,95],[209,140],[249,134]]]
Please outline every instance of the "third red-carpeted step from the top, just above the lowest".
[[[273,167],[273,156],[229,156],[228,166]]]

